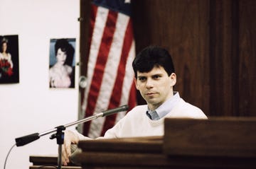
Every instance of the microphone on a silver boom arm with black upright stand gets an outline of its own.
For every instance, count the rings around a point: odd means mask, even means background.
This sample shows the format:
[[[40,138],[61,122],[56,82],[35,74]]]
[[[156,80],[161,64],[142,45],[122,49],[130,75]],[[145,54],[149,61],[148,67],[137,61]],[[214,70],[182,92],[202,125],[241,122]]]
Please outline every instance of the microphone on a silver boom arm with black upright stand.
[[[73,126],[75,124],[80,124],[80,123],[83,123],[83,122],[88,122],[90,120],[95,120],[98,117],[105,117],[105,116],[112,115],[112,114],[117,113],[117,112],[127,111],[128,109],[129,109],[128,105],[122,105],[122,106],[117,107],[115,109],[106,110],[104,112],[100,112],[100,113],[92,115],[90,117],[86,117],[85,119],[82,119],[82,120],[78,120],[78,121],[75,121],[75,122],[70,122],[68,124],[55,127],[54,129],[50,129],[46,132],[33,133],[33,134],[29,134],[27,136],[21,136],[21,137],[18,137],[18,138],[15,139],[16,140],[16,146],[23,146],[25,144],[31,143],[32,141],[36,141],[41,136],[44,136],[46,134],[50,134],[52,132],[56,132],[55,134],[52,134],[50,136],[50,139],[55,139],[56,138],[56,140],[57,140],[57,144],[58,144],[58,169],[61,169],[62,144],[64,143],[64,132],[63,131],[67,127]]]

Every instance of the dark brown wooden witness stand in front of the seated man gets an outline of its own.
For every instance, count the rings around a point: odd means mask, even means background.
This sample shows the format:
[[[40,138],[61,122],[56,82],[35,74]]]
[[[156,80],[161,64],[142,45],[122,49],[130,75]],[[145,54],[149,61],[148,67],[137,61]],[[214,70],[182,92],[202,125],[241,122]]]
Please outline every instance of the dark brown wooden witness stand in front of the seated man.
[[[65,168],[256,168],[256,119],[212,117],[166,119],[164,136],[80,141],[76,160]],[[57,157],[31,156],[38,168]],[[38,161],[41,161],[38,163]],[[46,168],[46,167],[43,167]]]

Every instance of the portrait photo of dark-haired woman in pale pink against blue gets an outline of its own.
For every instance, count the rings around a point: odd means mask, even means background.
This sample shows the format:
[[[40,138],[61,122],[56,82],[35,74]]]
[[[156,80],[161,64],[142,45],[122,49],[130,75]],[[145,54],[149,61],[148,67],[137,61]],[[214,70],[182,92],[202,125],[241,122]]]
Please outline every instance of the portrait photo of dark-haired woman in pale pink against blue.
[[[50,88],[75,88],[75,38],[50,40]]]

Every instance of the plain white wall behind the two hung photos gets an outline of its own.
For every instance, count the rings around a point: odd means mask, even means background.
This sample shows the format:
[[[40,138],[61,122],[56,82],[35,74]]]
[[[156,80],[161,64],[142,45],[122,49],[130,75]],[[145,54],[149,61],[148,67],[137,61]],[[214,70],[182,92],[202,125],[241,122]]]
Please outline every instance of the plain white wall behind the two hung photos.
[[[48,88],[51,38],[76,38],[79,54],[80,0],[0,0],[0,35],[18,35],[19,76],[16,84],[0,84],[0,168],[15,139],[45,132],[78,118],[78,75],[73,89]],[[14,147],[6,169],[25,169],[31,155],[57,155],[51,134]]]

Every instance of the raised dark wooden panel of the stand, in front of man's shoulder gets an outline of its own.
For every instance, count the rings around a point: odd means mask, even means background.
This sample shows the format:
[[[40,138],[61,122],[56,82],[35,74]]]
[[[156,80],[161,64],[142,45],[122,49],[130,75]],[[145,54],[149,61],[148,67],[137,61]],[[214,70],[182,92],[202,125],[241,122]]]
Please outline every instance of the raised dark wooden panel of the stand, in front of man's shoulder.
[[[172,156],[256,158],[255,117],[166,118],[164,131],[163,149]]]

